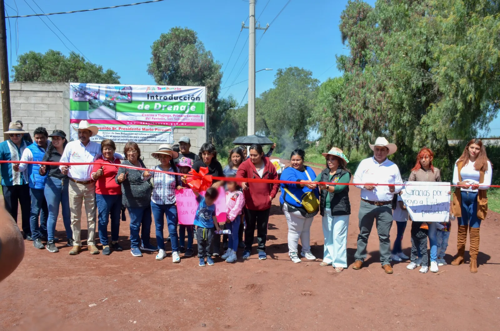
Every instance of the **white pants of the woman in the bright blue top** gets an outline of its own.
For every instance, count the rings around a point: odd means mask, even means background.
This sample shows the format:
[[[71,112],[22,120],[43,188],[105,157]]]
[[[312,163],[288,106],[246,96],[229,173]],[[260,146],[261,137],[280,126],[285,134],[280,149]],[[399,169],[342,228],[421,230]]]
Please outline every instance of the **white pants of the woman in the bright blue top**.
[[[300,238],[302,251],[310,251],[311,246],[309,244],[309,229],[312,224],[312,217],[305,218],[298,210],[290,209],[290,211],[291,212],[288,211],[288,205],[284,203],[283,213],[286,217],[286,222],[288,223],[288,254],[297,252],[298,238]]]

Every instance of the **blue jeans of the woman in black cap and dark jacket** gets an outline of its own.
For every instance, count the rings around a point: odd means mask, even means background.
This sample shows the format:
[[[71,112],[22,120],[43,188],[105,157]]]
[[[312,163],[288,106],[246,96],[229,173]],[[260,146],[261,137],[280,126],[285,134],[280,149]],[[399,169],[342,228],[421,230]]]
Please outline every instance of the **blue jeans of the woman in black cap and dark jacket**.
[[[71,214],[69,211],[68,178],[59,179],[49,176],[45,183],[45,199],[47,200],[47,239],[53,240],[55,234],[55,224],[59,216],[59,204],[62,208],[62,222],[66,229],[66,238],[73,237],[71,231]]]

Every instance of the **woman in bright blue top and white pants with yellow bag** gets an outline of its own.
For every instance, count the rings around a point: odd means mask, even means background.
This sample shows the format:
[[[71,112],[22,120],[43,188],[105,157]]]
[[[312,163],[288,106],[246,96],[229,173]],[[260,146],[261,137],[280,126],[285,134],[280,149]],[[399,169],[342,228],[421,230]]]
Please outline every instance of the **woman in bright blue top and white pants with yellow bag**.
[[[288,223],[288,255],[292,262],[298,263],[300,262],[297,254],[298,238],[300,238],[302,245],[300,255],[309,260],[316,259],[310,251],[309,229],[317,210],[313,213],[307,213],[300,201],[304,193],[312,191],[318,197],[319,191],[316,184],[312,183],[312,179],[316,177],[314,170],[304,165],[304,151],[302,149],[295,149],[291,152],[290,165],[283,170],[280,179],[296,181],[297,183],[281,184],[279,202],[282,204],[283,213]]]

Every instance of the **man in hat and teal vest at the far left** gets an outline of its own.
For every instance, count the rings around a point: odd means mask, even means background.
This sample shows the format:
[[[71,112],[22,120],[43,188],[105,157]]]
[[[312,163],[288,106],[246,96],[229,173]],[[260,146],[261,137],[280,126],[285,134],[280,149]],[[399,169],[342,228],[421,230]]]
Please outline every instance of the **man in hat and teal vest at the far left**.
[[[8,139],[0,143],[0,160],[18,161],[24,149],[31,143],[22,139],[24,131],[21,123],[8,124]],[[17,222],[17,207],[21,205],[22,231],[24,238],[31,240],[31,228],[29,216],[31,213],[31,202],[29,196],[28,178],[25,173],[12,170],[12,163],[1,163],[1,185],[5,209]]]

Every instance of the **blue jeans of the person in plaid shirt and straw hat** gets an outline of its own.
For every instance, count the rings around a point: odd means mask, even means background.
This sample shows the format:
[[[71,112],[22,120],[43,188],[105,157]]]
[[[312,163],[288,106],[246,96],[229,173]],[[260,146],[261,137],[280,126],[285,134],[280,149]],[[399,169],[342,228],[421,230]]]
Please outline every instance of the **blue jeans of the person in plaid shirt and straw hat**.
[[[165,241],[163,239],[163,214],[166,216],[166,225],[172,244],[172,252],[179,251],[179,236],[177,234],[177,207],[175,203],[156,204],[151,201],[151,211],[154,217],[154,226],[156,227],[156,243],[158,249],[165,249]]]

